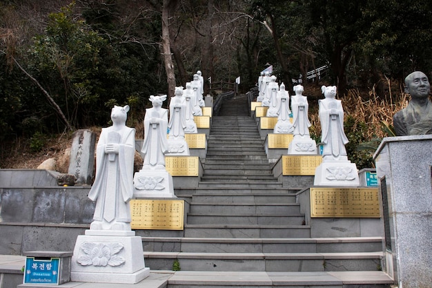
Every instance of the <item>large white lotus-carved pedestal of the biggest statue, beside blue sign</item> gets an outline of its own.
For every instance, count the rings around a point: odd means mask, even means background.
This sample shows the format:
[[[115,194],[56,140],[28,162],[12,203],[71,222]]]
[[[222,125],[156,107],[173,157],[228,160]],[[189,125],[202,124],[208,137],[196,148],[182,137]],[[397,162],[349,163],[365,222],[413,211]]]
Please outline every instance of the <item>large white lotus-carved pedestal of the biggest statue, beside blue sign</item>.
[[[135,231],[86,230],[75,243],[70,278],[75,282],[135,284],[150,275]]]

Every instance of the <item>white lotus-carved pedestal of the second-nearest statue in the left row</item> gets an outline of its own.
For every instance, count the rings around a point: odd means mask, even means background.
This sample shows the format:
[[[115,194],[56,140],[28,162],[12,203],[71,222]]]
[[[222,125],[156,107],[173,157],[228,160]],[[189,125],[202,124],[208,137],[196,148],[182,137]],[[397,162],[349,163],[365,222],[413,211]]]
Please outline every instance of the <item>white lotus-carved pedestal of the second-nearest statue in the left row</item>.
[[[150,170],[144,166],[133,177],[135,198],[177,198],[173,176],[164,169]]]

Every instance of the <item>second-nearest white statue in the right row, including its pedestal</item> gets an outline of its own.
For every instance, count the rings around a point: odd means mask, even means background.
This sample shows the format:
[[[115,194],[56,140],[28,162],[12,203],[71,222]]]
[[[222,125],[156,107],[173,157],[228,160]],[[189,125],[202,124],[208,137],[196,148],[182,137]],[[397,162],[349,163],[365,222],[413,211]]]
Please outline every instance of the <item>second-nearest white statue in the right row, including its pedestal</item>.
[[[288,147],[288,155],[317,155],[317,144],[309,133],[308,99],[302,95],[303,91],[302,85],[294,86],[295,95],[291,96],[294,138]]]

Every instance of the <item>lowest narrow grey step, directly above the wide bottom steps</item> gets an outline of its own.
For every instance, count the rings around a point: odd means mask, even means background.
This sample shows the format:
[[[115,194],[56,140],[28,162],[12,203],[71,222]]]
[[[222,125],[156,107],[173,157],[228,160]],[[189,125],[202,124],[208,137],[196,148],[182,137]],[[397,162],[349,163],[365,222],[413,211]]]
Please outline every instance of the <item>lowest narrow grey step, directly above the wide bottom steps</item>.
[[[308,225],[186,224],[184,237],[193,238],[308,238]]]

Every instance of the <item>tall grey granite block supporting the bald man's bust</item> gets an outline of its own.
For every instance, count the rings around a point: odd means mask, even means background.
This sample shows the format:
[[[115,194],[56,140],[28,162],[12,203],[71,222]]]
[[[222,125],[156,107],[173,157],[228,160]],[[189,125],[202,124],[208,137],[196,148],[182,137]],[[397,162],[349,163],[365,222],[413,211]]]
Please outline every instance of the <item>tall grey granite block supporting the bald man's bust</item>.
[[[386,137],[374,155],[385,270],[403,288],[432,283],[432,135]]]

